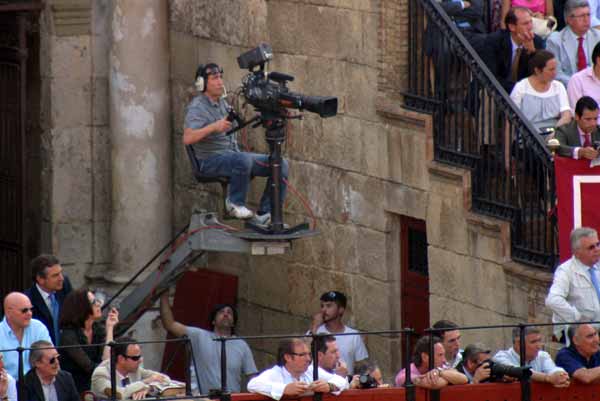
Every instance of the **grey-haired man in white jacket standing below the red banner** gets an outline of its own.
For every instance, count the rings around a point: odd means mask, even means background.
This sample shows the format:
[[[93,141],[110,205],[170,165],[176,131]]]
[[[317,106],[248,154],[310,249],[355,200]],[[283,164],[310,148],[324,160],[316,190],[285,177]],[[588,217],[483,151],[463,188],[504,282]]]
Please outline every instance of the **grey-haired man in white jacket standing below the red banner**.
[[[558,266],[546,306],[553,323],[600,321],[600,242],[593,228],[579,227],[571,232],[573,256]],[[554,326],[557,339],[566,342],[565,326]]]

